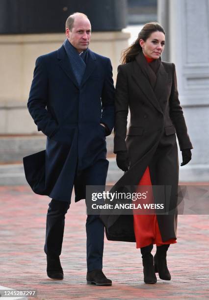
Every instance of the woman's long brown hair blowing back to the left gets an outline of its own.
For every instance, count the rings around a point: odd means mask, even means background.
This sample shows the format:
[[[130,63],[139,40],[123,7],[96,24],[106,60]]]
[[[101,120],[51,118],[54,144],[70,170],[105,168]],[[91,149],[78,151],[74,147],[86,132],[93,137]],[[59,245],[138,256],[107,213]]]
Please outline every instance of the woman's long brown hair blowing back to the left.
[[[135,42],[133,42],[133,44],[129,48],[122,51],[121,63],[126,64],[128,62],[133,61],[135,59],[136,55],[140,51],[142,51],[139,41],[141,39],[143,41],[146,41],[150,37],[150,35],[155,31],[160,31],[165,34],[163,27],[159,23],[150,22],[150,23],[145,24],[143,26],[143,28],[141,29],[141,31],[139,32],[138,37],[135,40]]]

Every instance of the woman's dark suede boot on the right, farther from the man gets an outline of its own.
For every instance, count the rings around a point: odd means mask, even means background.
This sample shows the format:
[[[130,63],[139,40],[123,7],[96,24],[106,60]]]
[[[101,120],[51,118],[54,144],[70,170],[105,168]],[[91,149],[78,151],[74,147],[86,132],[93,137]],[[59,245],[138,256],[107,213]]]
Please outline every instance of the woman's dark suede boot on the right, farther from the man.
[[[157,246],[157,251],[154,256],[155,272],[158,273],[159,278],[163,280],[171,280],[170,272],[168,271],[166,255],[169,248],[168,245]]]

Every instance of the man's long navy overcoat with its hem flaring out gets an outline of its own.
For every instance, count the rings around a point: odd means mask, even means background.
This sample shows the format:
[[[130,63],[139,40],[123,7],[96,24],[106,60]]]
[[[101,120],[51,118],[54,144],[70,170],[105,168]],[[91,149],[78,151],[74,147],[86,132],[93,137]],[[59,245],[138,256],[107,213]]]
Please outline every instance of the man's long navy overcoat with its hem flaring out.
[[[24,158],[26,179],[35,193],[70,201],[76,172],[106,159],[105,135],[114,126],[109,58],[89,50],[78,86],[63,46],[38,57],[27,106],[47,146]]]

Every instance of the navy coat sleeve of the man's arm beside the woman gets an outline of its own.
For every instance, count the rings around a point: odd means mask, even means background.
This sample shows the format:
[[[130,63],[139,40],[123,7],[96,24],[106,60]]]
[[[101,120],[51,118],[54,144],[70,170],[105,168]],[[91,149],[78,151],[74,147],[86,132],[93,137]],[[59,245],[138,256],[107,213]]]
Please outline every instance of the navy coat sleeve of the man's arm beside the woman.
[[[110,59],[107,59],[106,72],[104,78],[104,86],[101,96],[102,101],[102,117],[101,123],[107,128],[107,134],[112,132],[115,121],[115,105],[114,105],[115,87],[112,79],[112,65]]]

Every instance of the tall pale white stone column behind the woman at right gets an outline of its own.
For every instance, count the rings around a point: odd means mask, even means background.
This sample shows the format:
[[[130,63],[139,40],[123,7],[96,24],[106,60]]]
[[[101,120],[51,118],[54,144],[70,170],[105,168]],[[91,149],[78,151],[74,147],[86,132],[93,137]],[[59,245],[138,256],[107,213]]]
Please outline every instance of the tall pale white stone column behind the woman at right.
[[[209,181],[209,0],[168,0],[167,13],[163,2],[158,0],[159,21],[168,18],[163,24],[168,57],[176,65],[180,101],[194,147],[192,161],[180,167],[180,180]]]

